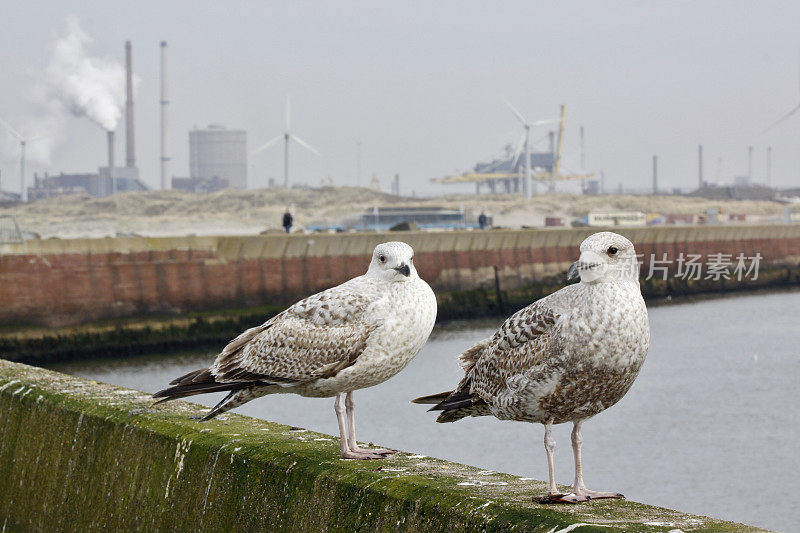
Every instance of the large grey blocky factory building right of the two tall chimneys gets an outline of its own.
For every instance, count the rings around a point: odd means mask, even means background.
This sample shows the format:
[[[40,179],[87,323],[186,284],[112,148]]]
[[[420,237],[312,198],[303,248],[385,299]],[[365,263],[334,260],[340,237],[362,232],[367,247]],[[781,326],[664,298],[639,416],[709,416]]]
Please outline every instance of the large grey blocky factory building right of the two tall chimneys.
[[[212,124],[189,132],[189,177],[247,188],[247,132]]]

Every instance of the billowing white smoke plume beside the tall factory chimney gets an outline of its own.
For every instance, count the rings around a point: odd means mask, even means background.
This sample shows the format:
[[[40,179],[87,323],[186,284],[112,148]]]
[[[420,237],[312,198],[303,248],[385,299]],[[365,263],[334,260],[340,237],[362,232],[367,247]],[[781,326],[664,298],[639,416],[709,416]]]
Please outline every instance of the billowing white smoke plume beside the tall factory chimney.
[[[51,46],[45,73],[48,95],[73,115],[115,130],[125,101],[125,68],[116,60],[89,56],[93,39],[77,17],[68,16],[65,27]]]

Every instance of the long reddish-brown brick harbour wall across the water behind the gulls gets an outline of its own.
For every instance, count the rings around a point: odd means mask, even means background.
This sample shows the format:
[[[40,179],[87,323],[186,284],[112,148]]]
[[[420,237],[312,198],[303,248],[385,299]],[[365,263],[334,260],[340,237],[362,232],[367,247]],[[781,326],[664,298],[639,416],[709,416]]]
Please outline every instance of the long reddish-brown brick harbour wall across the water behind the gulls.
[[[576,233],[579,238],[573,240],[580,242],[586,233]],[[415,239],[421,237],[404,240],[416,245]],[[660,258],[667,253],[674,260],[681,252],[734,257],[759,252],[762,265],[796,264],[800,257],[800,238],[794,235],[635,244],[645,256],[644,272],[651,254]],[[494,267],[504,288],[512,288],[529,282],[531,271],[537,273],[534,278],[563,272],[577,255],[577,245],[496,249],[487,244],[418,251],[415,264],[437,291],[492,286]],[[220,257],[219,248],[0,255],[0,324],[61,325],[138,313],[290,303],[362,274],[368,262],[367,253],[230,259]]]

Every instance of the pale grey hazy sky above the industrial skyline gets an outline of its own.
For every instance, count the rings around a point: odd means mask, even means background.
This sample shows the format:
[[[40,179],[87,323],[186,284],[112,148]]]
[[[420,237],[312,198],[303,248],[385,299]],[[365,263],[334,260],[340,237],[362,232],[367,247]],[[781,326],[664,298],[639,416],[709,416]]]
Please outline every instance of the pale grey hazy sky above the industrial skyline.
[[[564,163],[603,171],[606,188],[645,189],[652,157],[664,188],[748,172],[800,186],[800,4],[796,2],[7,2],[0,21],[0,117],[30,143],[33,172],[90,172],[105,164],[105,134],[54,103],[53,42],[74,16],[88,54],[124,62],[133,43],[136,155],[143,181],[159,182],[159,43],[169,43],[168,142],[172,174],[189,173],[188,132],[244,129],[248,150],[285,130],[322,155],[291,146],[292,180],[388,191],[471,191],[430,178],[470,170],[529,120],[567,106]],[[48,74],[49,72],[49,74]],[[124,161],[124,125],[117,161]],[[532,140],[546,138],[534,128]],[[358,169],[360,143],[361,172]],[[37,146],[38,145],[38,146]],[[547,141],[536,145],[545,150]],[[0,133],[0,187],[19,190],[19,145]],[[248,156],[250,187],[281,182],[280,144]],[[576,185],[560,185],[575,190]]]

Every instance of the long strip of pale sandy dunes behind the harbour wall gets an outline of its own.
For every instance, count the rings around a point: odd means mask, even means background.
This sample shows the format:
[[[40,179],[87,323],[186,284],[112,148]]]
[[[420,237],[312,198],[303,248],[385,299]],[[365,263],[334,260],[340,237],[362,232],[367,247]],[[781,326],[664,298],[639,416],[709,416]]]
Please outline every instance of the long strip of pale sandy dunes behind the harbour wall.
[[[722,213],[775,216],[778,202],[710,201],[679,196],[580,196],[553,194],[529,201],[510,195],[399,197],[365,188],[225,190],[209,194],[179,191],[123,193],[110,198],[64,196],[0,209],[14,214],[27,231],[49,237],[138,235],[258,234],[280,229],[283,211],[294,206],[299,227],[336,225],[373,206],[441,206],[477,213],[485,210],[496,225],[542,225],[545,216],[583,216],[591,210],[645,213],[696,213],[717,207]]]

